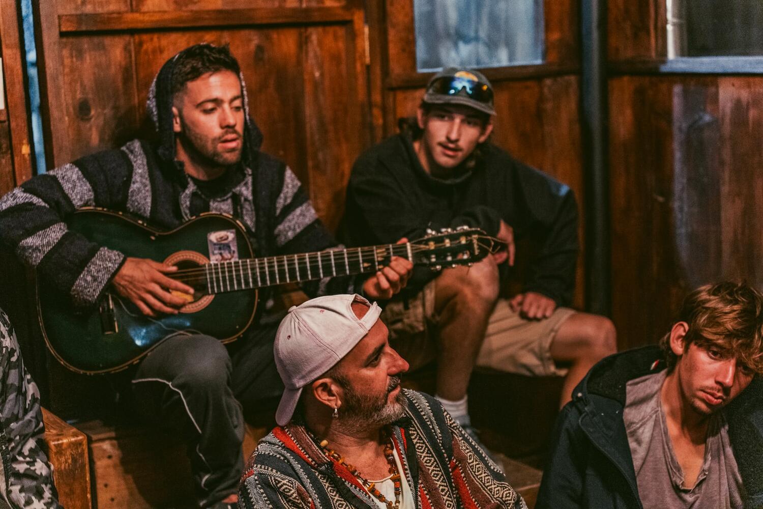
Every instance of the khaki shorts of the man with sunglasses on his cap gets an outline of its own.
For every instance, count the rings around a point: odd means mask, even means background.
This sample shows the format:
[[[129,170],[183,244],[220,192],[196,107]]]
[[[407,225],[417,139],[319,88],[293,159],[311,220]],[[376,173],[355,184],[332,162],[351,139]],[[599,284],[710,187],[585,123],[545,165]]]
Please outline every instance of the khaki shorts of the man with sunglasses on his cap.
[[[431,281],[413,298],[392,301],[381,313],[391,346],[407,360],[410,369],[419,369],[437,356],[434,294],[435,282]],[[525,320],[512,311],[506,299],[498,299],[476,365],[518,375],[565,375],[567,370],[556,366],[551,358],[551,342],[559,327],[576,312],[556,308],[546,320]]]

